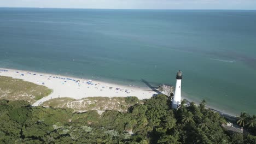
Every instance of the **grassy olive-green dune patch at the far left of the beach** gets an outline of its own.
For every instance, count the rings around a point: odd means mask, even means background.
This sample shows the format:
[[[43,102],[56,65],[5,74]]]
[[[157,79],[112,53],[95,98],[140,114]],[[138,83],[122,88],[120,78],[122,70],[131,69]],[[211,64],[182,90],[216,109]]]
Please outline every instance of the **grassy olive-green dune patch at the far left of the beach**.
[[[0,99],[25,100],[33,104],[49,95],[51,89],[20,79],[0,76]]]

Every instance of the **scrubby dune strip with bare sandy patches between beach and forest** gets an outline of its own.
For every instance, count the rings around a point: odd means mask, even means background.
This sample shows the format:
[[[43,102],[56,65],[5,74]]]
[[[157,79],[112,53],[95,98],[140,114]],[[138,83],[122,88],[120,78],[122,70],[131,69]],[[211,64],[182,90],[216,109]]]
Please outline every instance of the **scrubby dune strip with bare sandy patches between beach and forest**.
[[[55,98],[45,101],[42,106],[48,107],[61,107],[71,108],[74,111],[89,111],[97,110],[99,113],[106,110],[115,110],[120,112],[126,112],[127,109],[135,104],[141,103],[137,97],[89,97],[81,100],[75,100],[72,98]]]

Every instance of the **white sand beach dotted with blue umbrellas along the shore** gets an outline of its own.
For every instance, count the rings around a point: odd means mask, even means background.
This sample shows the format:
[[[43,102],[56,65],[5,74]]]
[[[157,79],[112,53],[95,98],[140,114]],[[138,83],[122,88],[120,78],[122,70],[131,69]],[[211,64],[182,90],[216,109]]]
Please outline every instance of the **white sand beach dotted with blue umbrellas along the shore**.
[[[1,76],[10,76],[14,79],[22,79],[28,82],[44,85],[53,89],[53,93],[44,97],[33,106],[54,98],[69,97],[82,99],[86,97],[129,97],[135,96],[138,99],[149,99],[157,94],[150,88],[138,88],[130,86],[115,85],[95,80],[78,79],[54,74],[36,73],[32,71],[0,68]]]

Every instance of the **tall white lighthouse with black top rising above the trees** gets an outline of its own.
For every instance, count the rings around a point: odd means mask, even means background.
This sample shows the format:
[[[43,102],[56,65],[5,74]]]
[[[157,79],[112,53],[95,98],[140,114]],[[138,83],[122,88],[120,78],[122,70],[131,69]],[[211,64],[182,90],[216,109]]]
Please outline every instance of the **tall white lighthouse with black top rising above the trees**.
[[[181,105],[181,80],[182,80],[182,71],[179,70],[176,75],[176,87],[175,93],[172,100],[172,109],[177,109]]]

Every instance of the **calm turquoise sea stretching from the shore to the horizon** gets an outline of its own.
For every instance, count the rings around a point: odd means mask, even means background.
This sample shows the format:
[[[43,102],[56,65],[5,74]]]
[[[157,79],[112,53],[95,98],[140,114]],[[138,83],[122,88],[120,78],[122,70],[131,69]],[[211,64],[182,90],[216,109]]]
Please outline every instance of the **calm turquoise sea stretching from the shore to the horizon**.
[[[0,8],[0,67],[125,85],[256,114],[256,11]]]

